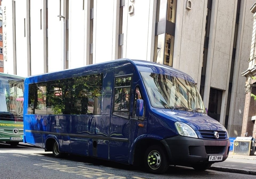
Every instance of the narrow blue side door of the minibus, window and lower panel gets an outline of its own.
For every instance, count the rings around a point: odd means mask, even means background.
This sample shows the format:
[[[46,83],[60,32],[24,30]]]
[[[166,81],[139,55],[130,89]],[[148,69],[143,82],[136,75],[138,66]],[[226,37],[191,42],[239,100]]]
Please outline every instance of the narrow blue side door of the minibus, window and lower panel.
[[[114,78],[113,110],[110,119],[110,160],[126,162],[129,157],[130,120],[129,105],[131,75]]]

